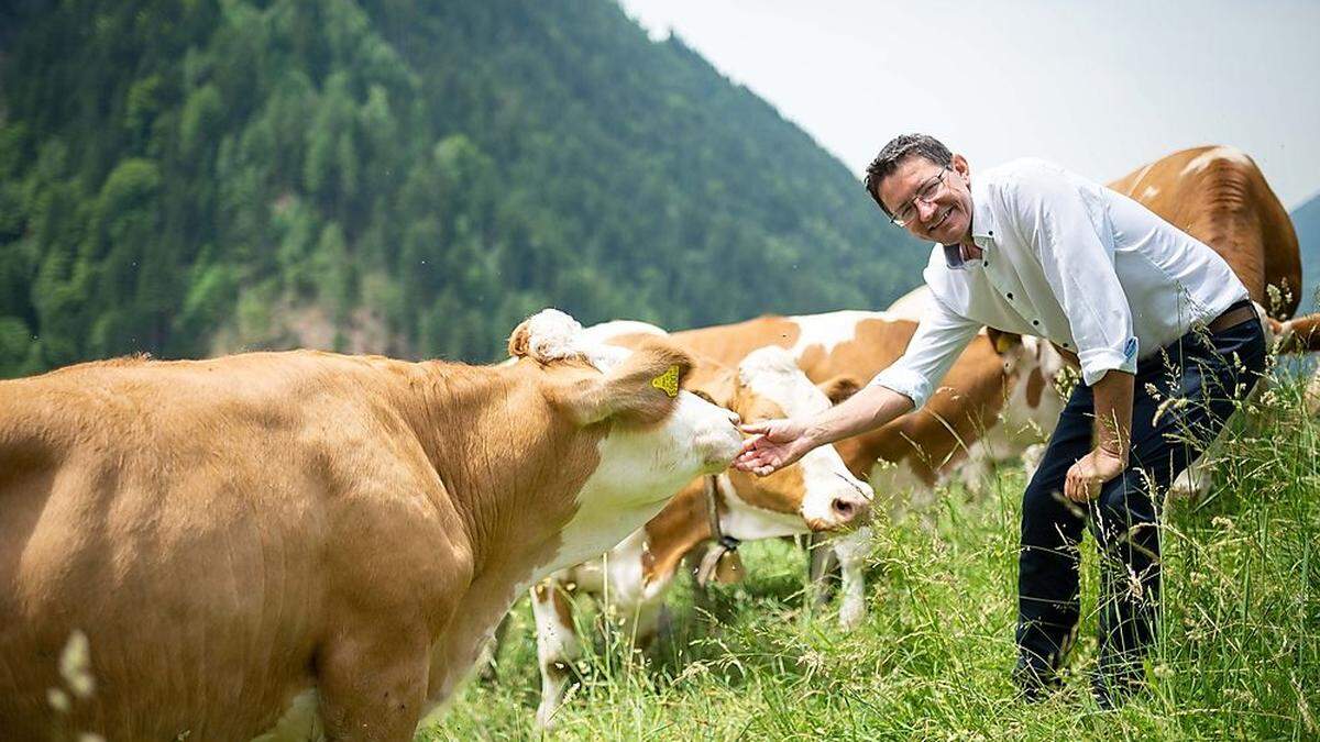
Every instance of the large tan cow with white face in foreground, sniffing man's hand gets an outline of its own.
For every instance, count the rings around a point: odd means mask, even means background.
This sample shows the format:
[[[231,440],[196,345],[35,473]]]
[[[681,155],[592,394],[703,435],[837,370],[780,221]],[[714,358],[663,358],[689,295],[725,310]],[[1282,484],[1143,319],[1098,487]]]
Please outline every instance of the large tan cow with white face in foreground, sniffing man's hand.
[[[411,739],[520,590],[738,453],[664,338],[510,345],[0,382],[0,737]]]

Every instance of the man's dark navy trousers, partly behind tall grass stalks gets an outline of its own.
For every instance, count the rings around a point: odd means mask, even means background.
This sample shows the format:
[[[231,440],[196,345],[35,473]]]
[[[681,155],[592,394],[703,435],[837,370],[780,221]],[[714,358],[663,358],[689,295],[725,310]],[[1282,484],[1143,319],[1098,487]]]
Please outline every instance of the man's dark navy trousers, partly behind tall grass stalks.
[[[1051,675],[1076,635],[1085,525],[1101,562],[1100,669],[1137,667],[1159,611],[1159,498],[1214,440],[1263,367],[1265,335],[1255,320],[1188,333],[1138,363],[1129,467],[1084,504],[1063,496],[1068,469],[1094,442],[1094,397],[1077,386],[1022,499],[1019,663]]]

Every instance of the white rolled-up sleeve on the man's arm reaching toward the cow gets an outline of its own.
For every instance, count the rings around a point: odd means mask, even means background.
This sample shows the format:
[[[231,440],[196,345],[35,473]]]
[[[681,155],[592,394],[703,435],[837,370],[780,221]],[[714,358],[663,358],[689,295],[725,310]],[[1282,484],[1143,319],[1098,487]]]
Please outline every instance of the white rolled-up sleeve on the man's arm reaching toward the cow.
[[[903,356],[876,374],[867,386],[892,389],[920,408],[979,329],[978,322],[954,314],[936,298]]]

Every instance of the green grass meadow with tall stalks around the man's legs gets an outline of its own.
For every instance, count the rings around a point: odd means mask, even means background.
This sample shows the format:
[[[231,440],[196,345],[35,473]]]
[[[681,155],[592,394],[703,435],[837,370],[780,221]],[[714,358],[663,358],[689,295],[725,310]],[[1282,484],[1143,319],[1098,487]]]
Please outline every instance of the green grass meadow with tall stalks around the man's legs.
[[[1118,710],[1089,694],[1096,555],[1084,543],[1082,627],[1065,689],[1015,698],[1022,474],[960,489],[902,522],[876,522],[867,619],[804,601],[805,555],[743,547],[747,578],[671,593],[671,624],[630,652],[578,599],[587,654],[552,739],[1320,739],[1320,424],[1300,383],[1253,403],[1216,452],[1214,487],[1164,512],[1164,611],[1148,689]],[[540,680],[527,601],[495,680],[474,680],[418,739],[536,739]]]

